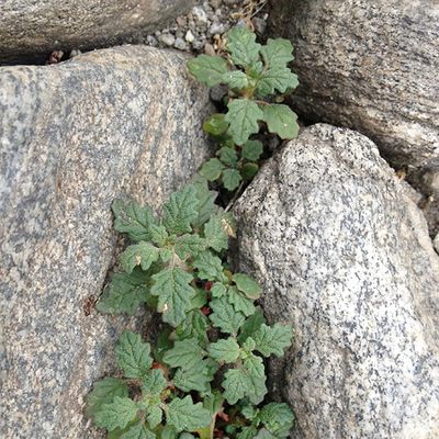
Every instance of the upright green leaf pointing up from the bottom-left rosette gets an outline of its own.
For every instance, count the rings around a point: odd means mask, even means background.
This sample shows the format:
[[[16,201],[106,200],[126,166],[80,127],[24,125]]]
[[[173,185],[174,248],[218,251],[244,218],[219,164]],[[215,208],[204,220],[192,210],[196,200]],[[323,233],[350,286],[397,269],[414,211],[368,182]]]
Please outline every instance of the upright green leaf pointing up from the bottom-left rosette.
[[[153,364],[149,356],[150,346],[142,340],[140,335],[125,330],[116,346],[117,365],[126,378],[144,378]]]

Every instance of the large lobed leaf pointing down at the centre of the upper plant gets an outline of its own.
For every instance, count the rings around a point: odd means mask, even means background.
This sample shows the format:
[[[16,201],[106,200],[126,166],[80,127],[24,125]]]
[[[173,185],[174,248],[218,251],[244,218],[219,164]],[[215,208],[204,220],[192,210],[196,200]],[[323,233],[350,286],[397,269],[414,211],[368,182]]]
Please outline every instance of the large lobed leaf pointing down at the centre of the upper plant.
[[[259,132],[258,121],[263,113],[258,104],[248,99],[235,99],[227,104],[225,121],[229,123],[228,133],[237,145],[244,145],[251,134]]]

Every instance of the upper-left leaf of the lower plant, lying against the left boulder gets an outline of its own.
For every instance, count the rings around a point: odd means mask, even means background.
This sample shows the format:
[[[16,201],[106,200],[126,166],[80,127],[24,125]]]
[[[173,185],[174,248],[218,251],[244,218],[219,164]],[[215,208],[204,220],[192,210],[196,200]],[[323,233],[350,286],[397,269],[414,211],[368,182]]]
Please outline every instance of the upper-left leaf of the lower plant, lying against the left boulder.
[[[114,228],[117,232],[127,234],[134,241],[150,239],[150,226],[157,224],[150,207],[114,200],[111,209],[115,216]]]

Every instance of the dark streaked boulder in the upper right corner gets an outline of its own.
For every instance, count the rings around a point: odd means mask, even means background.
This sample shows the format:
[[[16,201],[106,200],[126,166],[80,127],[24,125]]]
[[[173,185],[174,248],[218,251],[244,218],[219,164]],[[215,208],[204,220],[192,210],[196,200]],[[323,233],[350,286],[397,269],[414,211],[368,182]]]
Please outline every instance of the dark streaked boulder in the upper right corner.
[[[272,1],[301,115],[354,128],[396,168],[439,168],[438,0]]]

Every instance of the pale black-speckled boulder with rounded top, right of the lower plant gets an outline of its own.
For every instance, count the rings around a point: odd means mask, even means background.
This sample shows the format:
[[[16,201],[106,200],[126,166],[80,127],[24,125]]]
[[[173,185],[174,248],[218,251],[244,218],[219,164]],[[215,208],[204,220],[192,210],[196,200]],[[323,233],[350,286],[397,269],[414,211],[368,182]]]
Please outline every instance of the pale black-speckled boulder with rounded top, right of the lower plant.
[[[405,193],[370,139],[322,124],[235,207],[239,268],[296,329],[277,380],[295,438],[439,437],[439,258]]]

